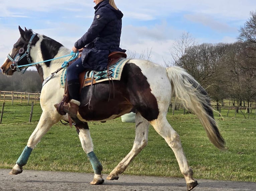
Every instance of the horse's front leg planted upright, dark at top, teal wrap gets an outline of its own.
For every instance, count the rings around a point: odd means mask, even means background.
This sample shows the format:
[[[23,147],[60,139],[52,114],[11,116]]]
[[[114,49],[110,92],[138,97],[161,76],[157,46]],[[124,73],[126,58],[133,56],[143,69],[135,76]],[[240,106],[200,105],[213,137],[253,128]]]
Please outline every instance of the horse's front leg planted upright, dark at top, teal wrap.
[[[101,171],[103,170],[102,164],[98,160],[97,156],[93,152],[93,141],[90,135],[90,130],[87,123],[78,123],[75,125],[77,128],[78,136],[81,141],[82,147],[86,152],[93,170],[94,170],[94,179],[91,184],[102,184],[104,179],[102,178]]]

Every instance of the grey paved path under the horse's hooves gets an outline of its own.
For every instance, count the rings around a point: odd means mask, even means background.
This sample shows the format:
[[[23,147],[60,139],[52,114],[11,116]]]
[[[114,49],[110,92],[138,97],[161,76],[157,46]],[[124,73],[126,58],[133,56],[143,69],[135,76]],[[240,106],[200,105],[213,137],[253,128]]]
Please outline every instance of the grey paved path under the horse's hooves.
[[[106,180],[91,185],[93,174],[24,170],[9,175],[0,169],[0,191],[186,191],[184,178],[120,175],[119,180]],[[231,182],[198,179],[193,191],[255,191],[256,182]]]

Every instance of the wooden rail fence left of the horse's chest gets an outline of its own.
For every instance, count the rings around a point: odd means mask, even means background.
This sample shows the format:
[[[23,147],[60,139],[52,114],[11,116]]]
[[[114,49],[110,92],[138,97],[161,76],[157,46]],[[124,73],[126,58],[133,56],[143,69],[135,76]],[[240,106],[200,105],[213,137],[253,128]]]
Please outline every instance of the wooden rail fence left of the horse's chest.
[[[30,92],[13,92],[13,91],[0,91],[0,101],[3,100],[11,100],[12,104],[13,101],[20,101],[20,103],[27,102],[40,102],[40,93],[30,93]]]

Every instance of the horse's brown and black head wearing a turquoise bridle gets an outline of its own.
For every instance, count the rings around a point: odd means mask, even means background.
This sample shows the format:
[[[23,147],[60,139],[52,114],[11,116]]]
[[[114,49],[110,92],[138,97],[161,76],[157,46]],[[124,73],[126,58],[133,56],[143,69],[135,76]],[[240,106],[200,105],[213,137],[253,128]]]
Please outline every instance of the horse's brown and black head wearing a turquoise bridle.
[[[13,45],[11,52],[7,55],[4,64],[0,67],[2,73],[8,76],[13,75],[15,71],[21,71],[23,68],[19,67],[23,65],[28,65],[30,63],[31,57],[29,55],[31,45],[35,45],[38,41],[37,35],[33,33],[31,29],[25,31],[20,28],[20,38]]]

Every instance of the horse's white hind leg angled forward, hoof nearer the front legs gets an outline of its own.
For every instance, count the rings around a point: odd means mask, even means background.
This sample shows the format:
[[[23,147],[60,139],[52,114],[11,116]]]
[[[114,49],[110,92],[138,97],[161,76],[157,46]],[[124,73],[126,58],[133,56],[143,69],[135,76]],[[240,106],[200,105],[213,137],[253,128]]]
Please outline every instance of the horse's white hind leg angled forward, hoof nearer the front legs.
[[[139,152],[147,145],[148,141],[148,127],[149,122],[141,116],[140,113],[136,113],[136,135],[133,143],[132,150],[124,157],[124,159],[112,170],[107,177],[108,180],[117,180],[119,174],[123,173],[132,159],[139,154]]]

